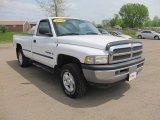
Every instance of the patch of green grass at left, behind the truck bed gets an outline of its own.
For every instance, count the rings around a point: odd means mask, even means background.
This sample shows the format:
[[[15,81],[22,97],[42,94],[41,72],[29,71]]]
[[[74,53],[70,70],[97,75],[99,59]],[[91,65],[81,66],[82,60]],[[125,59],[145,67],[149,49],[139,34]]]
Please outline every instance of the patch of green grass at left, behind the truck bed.
[[[26,34],[25,32],[0,32],[0,43],[10,43],[12,42],[13,35],[15,34]]]

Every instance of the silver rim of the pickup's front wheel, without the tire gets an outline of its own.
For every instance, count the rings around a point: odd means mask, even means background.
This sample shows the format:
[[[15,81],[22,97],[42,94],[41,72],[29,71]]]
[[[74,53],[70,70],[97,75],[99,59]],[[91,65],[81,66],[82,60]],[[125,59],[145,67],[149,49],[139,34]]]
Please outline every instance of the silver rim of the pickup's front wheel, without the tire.
[[[63,85],[68,92],[72,93],[75,91],[75,81],[70,72],[63,74]]]

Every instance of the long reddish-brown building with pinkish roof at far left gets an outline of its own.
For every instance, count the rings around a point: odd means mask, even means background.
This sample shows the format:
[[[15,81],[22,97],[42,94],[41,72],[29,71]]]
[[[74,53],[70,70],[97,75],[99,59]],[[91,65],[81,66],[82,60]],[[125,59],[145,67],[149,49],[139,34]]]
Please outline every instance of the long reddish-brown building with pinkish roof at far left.
[[[8,32],[27,32],[31,25],[27,21],[0,21],[0,26],[5,25]]]

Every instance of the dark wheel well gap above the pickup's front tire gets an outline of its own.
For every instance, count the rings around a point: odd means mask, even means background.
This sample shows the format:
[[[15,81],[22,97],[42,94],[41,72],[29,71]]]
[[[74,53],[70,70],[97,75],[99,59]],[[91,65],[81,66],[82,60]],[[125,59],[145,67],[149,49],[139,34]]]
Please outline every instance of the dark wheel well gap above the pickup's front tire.
[[[78,66],[81,66],[81,62],[72,56],[60,54],[57,59],[57,65],[59,68],[62,68],[64,65],[69,63],[76,63]]]

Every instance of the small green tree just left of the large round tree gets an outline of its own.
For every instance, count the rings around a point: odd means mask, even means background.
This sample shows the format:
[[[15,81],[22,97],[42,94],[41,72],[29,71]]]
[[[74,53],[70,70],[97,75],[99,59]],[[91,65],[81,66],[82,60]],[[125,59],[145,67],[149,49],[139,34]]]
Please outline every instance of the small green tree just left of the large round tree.
[[[122,25],[122,19],[120,18],[120,16],[118,14],[114,15],[114,18],[110,20],[110,24],[112,27],[118,25],[121,26]]]

